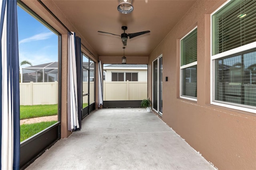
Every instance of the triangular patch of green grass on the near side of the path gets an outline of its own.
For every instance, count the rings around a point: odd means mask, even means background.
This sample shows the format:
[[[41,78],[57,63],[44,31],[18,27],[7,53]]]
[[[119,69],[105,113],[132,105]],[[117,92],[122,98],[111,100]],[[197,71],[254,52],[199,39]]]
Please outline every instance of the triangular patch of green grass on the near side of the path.
[[[44,130],[45,128],[50,127],[56,122],[57,121],[50,121],[20,125],[20,142],[26,140],[27,138],[33,136],[34,134],[37,134],[38,132]]]

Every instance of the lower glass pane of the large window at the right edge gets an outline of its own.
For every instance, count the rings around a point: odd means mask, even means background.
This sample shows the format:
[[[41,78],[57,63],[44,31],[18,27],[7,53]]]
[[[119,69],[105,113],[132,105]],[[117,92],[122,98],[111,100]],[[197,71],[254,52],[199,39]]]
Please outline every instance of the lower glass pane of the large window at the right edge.
[[[218,101],[256,106],[256,49],[216,59]]]

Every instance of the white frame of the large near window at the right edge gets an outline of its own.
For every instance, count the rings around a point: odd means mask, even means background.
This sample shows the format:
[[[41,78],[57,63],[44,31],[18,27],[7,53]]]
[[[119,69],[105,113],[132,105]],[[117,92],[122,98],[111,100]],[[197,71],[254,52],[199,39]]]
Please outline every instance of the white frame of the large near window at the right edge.
[[[217,106],[221,106],[221,107],[227,107],[227,108],[231,108],[231,109],[236,109],[236,110],[241,110],[241,111],[247,111],[247,112],[252,112],[252,113],[256,113],[256,107],[254,106],[249,106],[249,105],[240,105],[237,103],[232,103],[229,104],[229,102],[224,102],[224,101],[214,101],[215,99],[215,60],[222,58],[222,57],[226,57],[228,55],[232,55],[235,53],[239,53],[242,51],[246,51],[252,48],[256,47],[256,42],[252,42],[246,45],[243,45],[241,47],[236,47],[234,49],[230,49],[228,51],[222,52],[222,53],[218,53],[216,55],[212,55],[212,16],[218,12],[218,10],[220,10],[221,8],[223,8],[226,4],[228,4],[231,0],[228,0],[227,2],[225,2],[224,4],[222,4],[222,6],[220,6],[217,10],[215,10],[211,15],[210,15],[210,57],[211,57],[211,63],[210,63],[210,104],[212,105],[217,105]],[[244,107],[247,106],[247,107]]]

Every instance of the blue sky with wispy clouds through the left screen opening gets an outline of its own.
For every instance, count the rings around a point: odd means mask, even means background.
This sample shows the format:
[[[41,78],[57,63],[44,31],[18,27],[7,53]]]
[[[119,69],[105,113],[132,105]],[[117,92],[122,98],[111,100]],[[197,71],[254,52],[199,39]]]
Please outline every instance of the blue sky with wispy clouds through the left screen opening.
[[[19,6],[18,40],[20,62],[39,65],[58,61],[58,36]]]

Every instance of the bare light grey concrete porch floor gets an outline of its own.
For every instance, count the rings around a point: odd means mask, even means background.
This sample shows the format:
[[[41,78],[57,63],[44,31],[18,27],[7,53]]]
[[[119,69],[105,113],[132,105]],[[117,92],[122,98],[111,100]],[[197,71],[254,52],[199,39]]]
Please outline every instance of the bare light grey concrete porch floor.
[[[26,170],[216,170],[154,113],[99,109]]]

